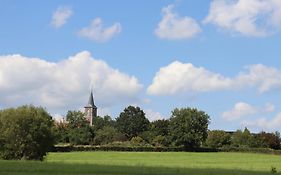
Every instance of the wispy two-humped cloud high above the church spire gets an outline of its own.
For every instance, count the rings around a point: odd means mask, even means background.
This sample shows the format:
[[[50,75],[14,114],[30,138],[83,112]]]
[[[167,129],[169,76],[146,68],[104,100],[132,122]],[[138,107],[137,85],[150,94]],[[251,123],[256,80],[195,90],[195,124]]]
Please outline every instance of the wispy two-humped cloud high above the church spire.
[[[120,23],[104,28],[101,18],[94,19],[89,27],[82,28],[78,35],[97,42],[106,42],[119,34],[122,30]]]

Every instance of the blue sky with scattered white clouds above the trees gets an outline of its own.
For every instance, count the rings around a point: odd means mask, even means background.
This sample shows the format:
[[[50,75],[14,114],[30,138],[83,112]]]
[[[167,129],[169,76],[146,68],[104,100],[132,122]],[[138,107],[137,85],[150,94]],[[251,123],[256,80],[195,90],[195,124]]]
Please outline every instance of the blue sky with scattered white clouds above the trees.
[[[150,121],[192,107],[210,129],[281,131],[281,1],[0,3],[0,109],[56,118],[140,106]]]

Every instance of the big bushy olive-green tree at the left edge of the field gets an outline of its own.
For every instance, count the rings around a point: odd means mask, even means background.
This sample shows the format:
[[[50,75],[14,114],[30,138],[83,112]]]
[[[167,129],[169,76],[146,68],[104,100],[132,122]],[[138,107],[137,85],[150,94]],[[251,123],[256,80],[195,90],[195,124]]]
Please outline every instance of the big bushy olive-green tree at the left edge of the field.
[[[43,160],[54,145],[52,117],[42,107],[0,111],[0,157]]]

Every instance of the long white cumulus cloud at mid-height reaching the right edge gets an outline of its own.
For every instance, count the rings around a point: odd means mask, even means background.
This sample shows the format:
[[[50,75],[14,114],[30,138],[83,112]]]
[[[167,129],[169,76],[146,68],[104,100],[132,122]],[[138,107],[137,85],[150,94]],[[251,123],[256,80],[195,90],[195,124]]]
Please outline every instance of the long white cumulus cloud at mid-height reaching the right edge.
[[[191,63],[175,61],[160,68],[147,92],[150,95],[177,95],[254,87],[264,93],[281,88],[280,70],[262,64],[245,69],[246,71],[231,78]]]

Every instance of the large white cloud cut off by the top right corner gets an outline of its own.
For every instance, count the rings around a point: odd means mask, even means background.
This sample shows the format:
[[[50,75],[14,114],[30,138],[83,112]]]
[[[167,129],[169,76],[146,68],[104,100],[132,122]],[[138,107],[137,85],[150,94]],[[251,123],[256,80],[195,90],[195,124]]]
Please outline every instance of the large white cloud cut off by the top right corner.
[[[204,23],[245,36],[266,36],[281,29],[281,1],[213,0]]]

